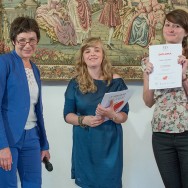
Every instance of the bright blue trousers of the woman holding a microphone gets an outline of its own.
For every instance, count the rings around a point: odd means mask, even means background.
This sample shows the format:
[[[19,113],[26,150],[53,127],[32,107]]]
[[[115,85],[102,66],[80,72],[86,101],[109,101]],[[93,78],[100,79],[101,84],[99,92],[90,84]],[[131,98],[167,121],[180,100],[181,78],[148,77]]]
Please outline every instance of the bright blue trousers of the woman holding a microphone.
[[[37,128],[25,130],[10,150],[12,169],[5,171],[0,168],[0,188],[17,188],[17,170],[22,188],[41,188],[41,150]]]

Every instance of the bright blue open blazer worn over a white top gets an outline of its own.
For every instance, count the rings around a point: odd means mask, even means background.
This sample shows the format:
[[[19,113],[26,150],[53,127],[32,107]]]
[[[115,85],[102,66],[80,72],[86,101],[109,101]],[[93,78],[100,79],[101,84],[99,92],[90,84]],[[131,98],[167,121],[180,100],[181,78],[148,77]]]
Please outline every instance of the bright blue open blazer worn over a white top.
[[[40,73],[31,62],[39,87],[39,99],[35,105],[37,128],[41,150],[48,150],[49,144],[44,128]],[[30,95],[27,76],[22,59],[12,51],[0,56],[0,149],[14,146],[21,138],[30,109]]]

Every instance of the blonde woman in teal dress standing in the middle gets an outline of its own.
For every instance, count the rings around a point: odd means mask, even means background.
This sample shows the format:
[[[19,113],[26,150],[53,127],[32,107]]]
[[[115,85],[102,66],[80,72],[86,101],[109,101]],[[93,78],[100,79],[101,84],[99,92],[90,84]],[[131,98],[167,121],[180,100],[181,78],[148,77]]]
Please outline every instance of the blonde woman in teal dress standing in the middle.
[[[82,188],[122,188],[123,131],[129,106],[116,113],[107,92],[127,89],[114,74],[99,38],[86,39],[76,63],[77,75],[65,92],[64,118],[73,125],[72,179]],[[109,118],[105,121],[104,117]]]

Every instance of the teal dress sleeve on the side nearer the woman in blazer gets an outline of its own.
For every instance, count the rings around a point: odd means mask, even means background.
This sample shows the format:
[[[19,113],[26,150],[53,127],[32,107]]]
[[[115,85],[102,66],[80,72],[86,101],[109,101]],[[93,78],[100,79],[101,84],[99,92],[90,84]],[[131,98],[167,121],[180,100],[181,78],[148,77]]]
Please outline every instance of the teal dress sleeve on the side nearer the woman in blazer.
[[[64,103],[64,119],[69,113],[76,113],[75,92],[77,89],[77,83],[75,80],[71,80],[65,91],[65,103]]]

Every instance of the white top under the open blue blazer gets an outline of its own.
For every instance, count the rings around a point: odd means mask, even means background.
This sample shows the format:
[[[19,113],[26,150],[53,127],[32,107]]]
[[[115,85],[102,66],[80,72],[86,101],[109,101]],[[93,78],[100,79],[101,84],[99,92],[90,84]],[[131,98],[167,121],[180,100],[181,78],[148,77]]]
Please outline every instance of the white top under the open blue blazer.
[[[38,101],[39,96],[39,88],[37,82],[35,80],[35,76],[33,73],[33,69],[25,68],[28,86],[29,86],[29,94],[30,94],[30,110],[29,115],[27,118],[27,122],[25,125],[25,130],[32,129],[33,127],[37,126],[37,116],[35,113],[35,104]]]

